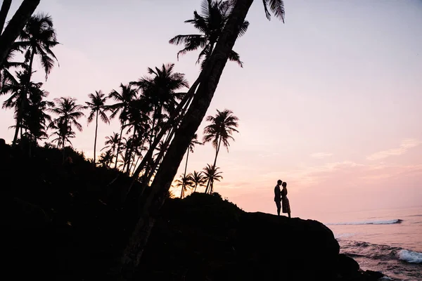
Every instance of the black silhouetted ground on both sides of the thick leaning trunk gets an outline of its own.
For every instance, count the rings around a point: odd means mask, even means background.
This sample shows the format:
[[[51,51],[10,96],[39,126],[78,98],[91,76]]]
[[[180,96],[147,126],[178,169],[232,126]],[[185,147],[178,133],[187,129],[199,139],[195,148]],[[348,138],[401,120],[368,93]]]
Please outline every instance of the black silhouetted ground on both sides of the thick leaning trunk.
[[[2,152],[2,254],[7,280],[115,280],[136,221],[130,178],[69,150]],[[117,178],[117,179],[116,179]],[[109,184],[110,182],[113,184]],[[148,194],[148,190],[146,190]],[[134,280],[377,280],[339,254],[318,221],[247,213],[218,194],[169,199]]]

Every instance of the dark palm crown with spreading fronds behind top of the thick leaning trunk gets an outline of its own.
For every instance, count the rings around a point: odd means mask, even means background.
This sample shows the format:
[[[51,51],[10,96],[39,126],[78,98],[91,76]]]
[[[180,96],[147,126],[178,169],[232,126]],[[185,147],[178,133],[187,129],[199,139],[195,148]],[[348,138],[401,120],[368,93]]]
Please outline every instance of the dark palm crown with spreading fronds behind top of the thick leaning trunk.
[[[231,13],[230,1],[222,0],[203,0],[201,3],[201,12],[198,14],[197,11],[193,12],[192,20],[185,20],[186,23],[191,23],[201,34],[188,34],[188,35],[177,35],[170,39],[169,43],[174,45],[184,44],[184,48],[177,53],[177,59],[179,55],[184,55],[188,51],[195,51],[201,48],[198,60],[196,63],[201,63],[201,67],[204,66],[205,61],[210,58],[212,51],[214,51],[215,44],[221,36],[224,25],[226,25],[229,15]],[[248,30],[249,22],[245,20],[241,26],[241,31],[238,37],[241,37]],[[229,54],[229,60],[238,63],[243,67],[241,59],[235,51],[231,51]]]

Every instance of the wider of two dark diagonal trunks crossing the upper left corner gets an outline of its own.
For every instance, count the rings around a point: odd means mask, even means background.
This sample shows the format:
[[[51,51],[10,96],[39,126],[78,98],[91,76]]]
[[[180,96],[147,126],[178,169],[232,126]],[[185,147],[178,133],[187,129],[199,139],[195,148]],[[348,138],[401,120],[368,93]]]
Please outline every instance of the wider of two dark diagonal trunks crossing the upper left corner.
[[[9,51],[13,46],[19,33],[25,27],[40,0],[23,0],[13,18],[8,22],[4,32],[0,36],[0,67],[3,65]]]

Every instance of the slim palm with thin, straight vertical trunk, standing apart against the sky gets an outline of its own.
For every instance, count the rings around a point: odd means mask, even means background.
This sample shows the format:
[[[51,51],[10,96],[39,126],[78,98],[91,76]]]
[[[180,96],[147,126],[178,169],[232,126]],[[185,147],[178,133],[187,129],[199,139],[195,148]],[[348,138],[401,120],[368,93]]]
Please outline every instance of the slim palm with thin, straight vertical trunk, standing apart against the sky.
[[[106,115],[106,112],[108,110],[108,107],[106,105],[106,94],[104,94],[101,90],[95,91],[95,95],[93,93],[90,93],[89,98],[91,101],[85,102],[87,104],[87,107],[91,110],[89,112],[88,116],[88,124],[94,120],[95,116],[95,138],[94,138],[94,158],[92,159],[92,162],[95,165],[96,162],[96,136],[98,131],[98,115],[101,117],[101,121],[104,123],[110,124],[110,120],[108,120],[108,117]]]

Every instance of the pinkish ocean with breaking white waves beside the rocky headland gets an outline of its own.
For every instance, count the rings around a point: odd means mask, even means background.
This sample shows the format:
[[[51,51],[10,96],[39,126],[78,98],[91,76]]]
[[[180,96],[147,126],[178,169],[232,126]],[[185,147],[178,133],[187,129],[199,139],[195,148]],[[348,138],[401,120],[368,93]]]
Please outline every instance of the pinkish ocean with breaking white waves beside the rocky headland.
[[[324,224],[363,270],[422,280],[422,207],[338,213]]]

